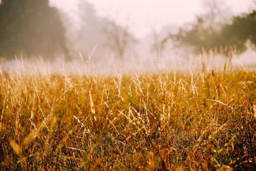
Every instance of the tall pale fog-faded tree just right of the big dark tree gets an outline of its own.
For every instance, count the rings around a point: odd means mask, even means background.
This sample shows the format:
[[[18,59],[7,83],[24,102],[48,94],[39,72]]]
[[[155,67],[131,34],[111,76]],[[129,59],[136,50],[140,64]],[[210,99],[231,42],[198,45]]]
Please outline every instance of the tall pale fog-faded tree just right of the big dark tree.
[[[87,0],[79,1],[79,27],[71,29],[70,39],[74,42],[74,51],[80,51],[85,57],[89,57],[94,47],[97,50],[93,53],[93,60],[102,59],[106,55],[107,49],[103,46],[106,36],[101,33],[102,29],[107,25],[107,19],[96,15],[94,7]],[[98,59],[97,59],[98,58]]]

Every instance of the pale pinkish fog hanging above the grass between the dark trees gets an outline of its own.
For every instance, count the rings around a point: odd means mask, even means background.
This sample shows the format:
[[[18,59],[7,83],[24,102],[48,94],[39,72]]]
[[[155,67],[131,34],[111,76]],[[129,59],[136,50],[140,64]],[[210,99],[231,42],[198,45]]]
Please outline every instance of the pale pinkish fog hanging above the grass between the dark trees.
[[[52,2],[51,6],[57,6]],[[201,2],[207,2],[207,0]],[[40,56],[27,60],[26,56],[16,56],[16,59],[2,62],[1,72],[29,67],[35,74],[51,72],[115,74],[120,70],[127,73],[218,71],[223,70],[227,64],[228,69],[234,71],[237,68],[251,70],[256,66],[256,53],[253,44],[249,41],[247,51],[232,53],[232,56],[227,58],[221,53],[213,53],[208,49],[196,51],[193,45],[180,45],[169,38],[170,35],[178,34],[181,27],[191,27],[191,23],[197,22],[198,16],[203,18],[211,11],[200,9],[201,11],[191,17],[191,21],[183,24],[172,22],[165,25],[152,24],[147,27],[146,32],[141,29],[136,32],[134,28],[139,27],[133,27],[134,22],[128,20],[120,22],[119,15],[115,18],[108,12],[104,16],[102,11],[97,11],[100,9],[97,3],[86,0],[80,0],[78,3],[73,7],[76,10],[72,13],[68,12],[64,6],[58,6],[66,29],[65,37],[72,57],[70,61],[63,60],[64,54],[55,54],[52,60]],[[201,7],[204,7],[202,3]],[[222,5],[218,5],[218,8],[222,13],[209,21],[231,22],[232,16],[235,15],[233,10]]]

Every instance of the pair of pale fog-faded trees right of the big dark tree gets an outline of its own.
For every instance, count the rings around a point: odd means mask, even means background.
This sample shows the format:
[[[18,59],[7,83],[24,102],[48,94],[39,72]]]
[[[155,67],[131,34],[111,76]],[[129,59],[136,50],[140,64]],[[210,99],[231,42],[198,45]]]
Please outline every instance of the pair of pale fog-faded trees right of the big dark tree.
[[[78,7],[78,22],[72,23],[68,20],[74,18],[68,19],[62,15],[67,28],[67,40],[72,42],[72,56],[79,54],[82,59],[90,58],[92,62],[112,64],[109,60],[111,53],[123,60],[127,55],[127,49],[134,50],[135,46],[130,41],[135,38],[128,33],[128,27],[121,27],[108,18],[97,16],[94,6],[87,0],[79,0]]]

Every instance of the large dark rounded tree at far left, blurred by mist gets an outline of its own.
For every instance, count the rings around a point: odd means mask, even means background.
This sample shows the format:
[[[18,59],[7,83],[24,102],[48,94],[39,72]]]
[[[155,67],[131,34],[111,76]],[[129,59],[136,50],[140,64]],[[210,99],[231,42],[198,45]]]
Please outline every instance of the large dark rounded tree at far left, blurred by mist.
[[[43,56],[64,53],[65,29],[49,0],[2,0],[0,4],[0,56]]]

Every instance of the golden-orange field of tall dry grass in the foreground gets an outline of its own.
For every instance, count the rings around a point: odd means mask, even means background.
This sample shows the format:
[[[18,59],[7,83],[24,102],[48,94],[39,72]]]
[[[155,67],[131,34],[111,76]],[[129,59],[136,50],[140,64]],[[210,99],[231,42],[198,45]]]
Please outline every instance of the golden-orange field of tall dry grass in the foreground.
[[[33,67],[0,75],[2,170],[256,168],[254,71]]]

